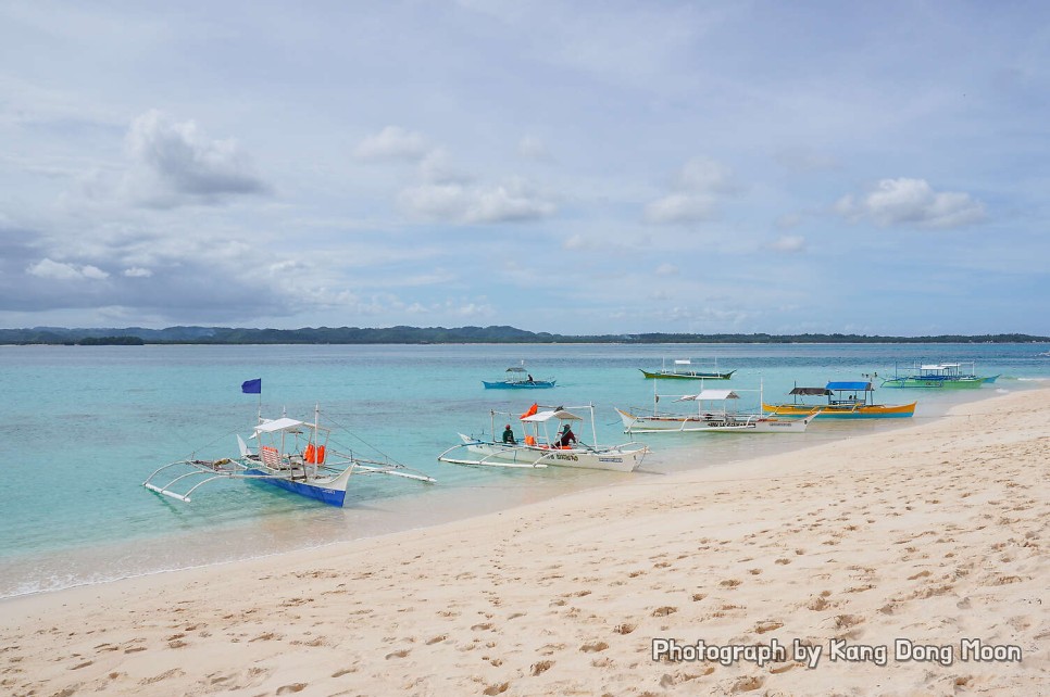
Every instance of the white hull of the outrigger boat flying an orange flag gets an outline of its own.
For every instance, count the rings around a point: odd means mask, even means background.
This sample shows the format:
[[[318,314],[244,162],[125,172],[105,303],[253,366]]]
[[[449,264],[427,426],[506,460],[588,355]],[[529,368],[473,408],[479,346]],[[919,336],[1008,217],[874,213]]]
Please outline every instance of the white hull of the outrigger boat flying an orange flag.
[[[475,465],[510,467],[575,467],[579,469],[601,469],[614,472],[632,472],[637,469],[649,452],[647,447],[636,449],[580,447],[559,448],[529,445],[505,445],[473,441],[465,445],[468,453],[478,459]],[[462,461],[462,460],[461,460]]]

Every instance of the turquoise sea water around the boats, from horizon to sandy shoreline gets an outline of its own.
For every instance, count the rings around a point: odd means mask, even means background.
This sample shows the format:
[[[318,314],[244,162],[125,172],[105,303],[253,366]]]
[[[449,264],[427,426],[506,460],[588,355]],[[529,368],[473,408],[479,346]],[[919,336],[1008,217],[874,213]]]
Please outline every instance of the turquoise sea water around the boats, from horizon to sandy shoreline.
[[[935,418],[961,401],[1050,379],[1042,344],[937,345],[430,345],[430,346],[0,346],[0,597],[214,563],[355,536],[420,528],[612,482],[645,482],[872,430]],[[827,423],[800,435],[647,435],[643,471],[492,470],[446,465],[438,454],[457,433],[490,430],[492,409],[540,404],[596,405],[598,440],[620,443],[614,406],[652,404],[654,381],[638,368],[692,358],[736,369],[735,390],[763,384],[784,400],[797,382],[892,373],[896,364],[976,360],[1002,373],[977,391],[879,390],[883,403],[918,398],[915,420]],[[526,359],[553,390],[484,390]],[[348,429],[340,443],[365,457],[388,456],[438,480],[360,478],[342,509],[243,482],[217,482],[191,504],[158,496],[141,482],[190,455],[236,453],[235,434],[255,422],[258,395],[240,383],[262,378],[263,415],[282,413]],[[659,381],[662,393],[695,383]],[[758,404],[758,394],[742,393]],[[500,418],[505,422],[505,419]],[[497,422],[497,430],[502,423]],[[586,431],[585,431],[586,432]],[[590,441],[591,439],[585,438]],[[322,554],[318,552],[318,554]]]

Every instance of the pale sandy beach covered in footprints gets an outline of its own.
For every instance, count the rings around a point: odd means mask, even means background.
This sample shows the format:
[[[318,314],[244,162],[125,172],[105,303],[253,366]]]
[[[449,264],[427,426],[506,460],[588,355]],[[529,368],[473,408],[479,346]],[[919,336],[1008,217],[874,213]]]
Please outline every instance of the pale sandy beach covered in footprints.
[[[0,601],[0,693],[1050,694],[1048,415],[1050,390],[1014,393],[427,530]],[[786,655],[653,660],[653,639]],[[901,660],[897,639],[936,650]]]

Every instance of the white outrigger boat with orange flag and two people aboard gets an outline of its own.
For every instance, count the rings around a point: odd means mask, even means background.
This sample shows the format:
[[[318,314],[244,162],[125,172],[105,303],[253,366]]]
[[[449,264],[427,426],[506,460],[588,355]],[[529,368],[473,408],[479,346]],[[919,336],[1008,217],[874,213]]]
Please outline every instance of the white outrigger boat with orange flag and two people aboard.
[[[593,445],[577,441],[572,445],[560,445],[559,433],[563,424],[583,422],[576,411],[588,410]],[[474,438],[460,433],[463,442],[453,445],[438,456],[442,462],[453,465],[485,465],[491,467],[526,467],[543,468],[578,467],[583,469],[603,469],[616,472],[630,472],[641,465],[649,446],[645,443],[632,441],[621,445],[598,445],[598,432],[595,428],[595,406],[578,407],[543,407],[534,404],[521,416],[492,411],[492,433],[496,433],[496,417],[516,418],[524,429],[522,441],[503,442],[493,439]],[[552,439],[548,431],[550,424],[557,424]]]

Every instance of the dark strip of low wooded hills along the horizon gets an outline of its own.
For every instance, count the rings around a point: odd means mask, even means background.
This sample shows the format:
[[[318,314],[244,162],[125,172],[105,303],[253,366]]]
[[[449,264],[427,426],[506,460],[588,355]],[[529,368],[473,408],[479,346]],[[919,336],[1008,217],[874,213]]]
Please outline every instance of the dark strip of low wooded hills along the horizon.
[[[34,327],[0,329],[0,344],[142,345],[142,344],[845,344],[845,343],[1050,343],[1032,334],[938,334],[879,337],[867,334],[601,334],[570,335],[532,332],[514,327],[317,327],[246,329],[168,327],[166,329],[65,329]]]

